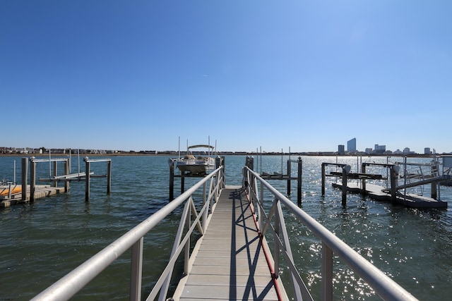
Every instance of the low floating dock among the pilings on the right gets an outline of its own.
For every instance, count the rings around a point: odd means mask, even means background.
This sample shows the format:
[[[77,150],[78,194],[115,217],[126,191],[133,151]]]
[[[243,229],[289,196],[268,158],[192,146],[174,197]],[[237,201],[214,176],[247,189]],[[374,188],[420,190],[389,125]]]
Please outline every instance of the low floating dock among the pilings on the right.
[[[342,184],[333,183],[334,188],[342,189]],[[385,192],[388,190],[383,186],[366,183],[366,190],[362,189],[362,184],[359,182],[347,183],[347,191],[353,193],[361,193],[363,195],[369,195],[372,199],[379,201],[392,202],[391,193]],[[396,195],[396,204],[403,205],[405,207],[417,208],[417,209],[446,209],[447,202],[432,199],[431,197],[424,197],[422,195],[416,195],[414,193],[398,192]]]

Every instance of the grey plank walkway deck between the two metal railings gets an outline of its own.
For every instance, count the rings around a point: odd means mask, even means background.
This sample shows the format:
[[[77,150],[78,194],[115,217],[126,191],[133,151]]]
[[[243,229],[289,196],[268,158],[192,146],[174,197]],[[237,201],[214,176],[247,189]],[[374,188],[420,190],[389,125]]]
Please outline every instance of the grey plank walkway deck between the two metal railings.
[[[241,187],[222,191],[193,252],[174,300],[287,300]]]

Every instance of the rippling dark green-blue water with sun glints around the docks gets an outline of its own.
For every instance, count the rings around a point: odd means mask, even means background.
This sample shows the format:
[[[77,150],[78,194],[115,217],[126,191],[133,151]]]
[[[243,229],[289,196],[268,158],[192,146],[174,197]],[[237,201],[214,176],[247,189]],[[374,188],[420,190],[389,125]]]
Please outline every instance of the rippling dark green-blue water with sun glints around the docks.
[[[167,156],[112,156],[111,159],[111,195],[106,195],[106,180],[95,178],[88,203],[84,200],[85,184],[71,183],[69,193],[37,199],[34,204],[0,209],[0,300],[30,299],[167,204]],[[347,206],[343,207],[341,192],[331,188],[330,183],[326,186],[325,197],[321,197],[321,163],[335,162],[336,158],[309,156],[302,159],[304,211],[415,297],[448,300],[452,293],[450,209],[407,209],[360,195],[347,195]],[[366,159],[386,162],[386,158]],[[0,178],[13,180],[14,160],[18,165],[16,178],[20,182],[20,157],[0,157]],[[283,161],[285,172],[286,160],[287,157],[281,159],[280,156],[259,157],[255,159],[255,169],[280,172]],[[358,165],[356,157],[340,157],[338,162],[352,165],[352,171],[356,171]],[[225,164],[227,185],[240,185],[244,156],[226,156]],[[73,158],[72,170],[77,168],[77,159]],[[92,164],[92,168],[96,174],[105,173],[106,164]],[[296,173],[294,167],[292,171]],[[41,177],[48,176],[48,164],[38,164],[38,173]],[[186,179],[186,187],[194,181],[196,179]],[[273,180],[271,183],[286,192],[285,181]],[[178,185],[176,180],[175,195],[179,192]],[[295,202],[296,191],[297,185],[292,183],[291,195]],[[429,196],[428,187],[424,195]],[[441,198],[451,207],[451,188],[442,187]],[[286,219],[299,273],[314,299],[319,300],[321,244],[293,216],[287,214]],[[145,292],[152,288],[164,269],[178,223],[179,215],[175,212],[145,237]],[[130,253],[126,252],[74,300],[126,299],[129,260]],[[379,300],[339,259],[334,262],[335,298]],[[283,279],[287,278],[286,274],[283,271]]]

